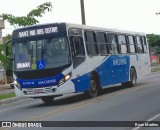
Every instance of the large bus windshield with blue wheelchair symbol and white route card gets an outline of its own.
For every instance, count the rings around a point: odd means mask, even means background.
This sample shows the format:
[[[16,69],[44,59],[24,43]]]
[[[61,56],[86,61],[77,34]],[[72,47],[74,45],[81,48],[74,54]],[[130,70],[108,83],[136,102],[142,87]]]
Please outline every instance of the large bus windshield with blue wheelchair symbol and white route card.
[[[22,40],[14,43],[14,70],[57,68],[70,64],[66,37]]]

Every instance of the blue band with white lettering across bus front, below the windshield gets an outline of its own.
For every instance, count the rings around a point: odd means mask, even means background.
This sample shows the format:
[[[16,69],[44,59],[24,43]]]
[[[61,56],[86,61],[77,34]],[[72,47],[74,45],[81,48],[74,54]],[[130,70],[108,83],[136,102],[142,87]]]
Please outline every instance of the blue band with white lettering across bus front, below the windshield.
[[[39,88],[55,86],[59,84],[59,81],[64,78],[63,74],[56,75],[54,77],[43,78],[43,79],[33,79],[33,80],[23,80],[17,78],[18,83],[22,88]]]

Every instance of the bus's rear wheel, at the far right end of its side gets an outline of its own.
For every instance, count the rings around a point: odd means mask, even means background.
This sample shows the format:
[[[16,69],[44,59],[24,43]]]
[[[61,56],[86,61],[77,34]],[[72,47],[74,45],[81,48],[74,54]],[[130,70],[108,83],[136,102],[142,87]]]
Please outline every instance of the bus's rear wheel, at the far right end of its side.
[[[130,69],[130,81],[122,83],[122,86],[125,87],[134,87],[137,84],[137,74],[134,68]]]

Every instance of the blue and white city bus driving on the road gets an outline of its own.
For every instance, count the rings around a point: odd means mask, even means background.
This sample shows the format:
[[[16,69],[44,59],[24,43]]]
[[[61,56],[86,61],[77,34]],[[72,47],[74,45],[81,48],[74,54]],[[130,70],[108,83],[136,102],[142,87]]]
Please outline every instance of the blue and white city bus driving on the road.
[[[12,34],[16,96],[45,103],[71,93],[96,97],[115,84],[135,86],[150,73],[144,33],[69,23],[16,29]]]

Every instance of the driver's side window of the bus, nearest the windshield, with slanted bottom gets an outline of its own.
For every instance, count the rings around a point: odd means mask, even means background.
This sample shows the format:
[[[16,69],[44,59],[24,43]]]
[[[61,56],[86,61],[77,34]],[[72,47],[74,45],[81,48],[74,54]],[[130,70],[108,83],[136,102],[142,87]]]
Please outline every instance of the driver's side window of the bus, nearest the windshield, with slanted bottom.
[[[83,38],[81,36],[71,36],[70,43],[71,43],[73,67],[76,68],[85,60]]]

